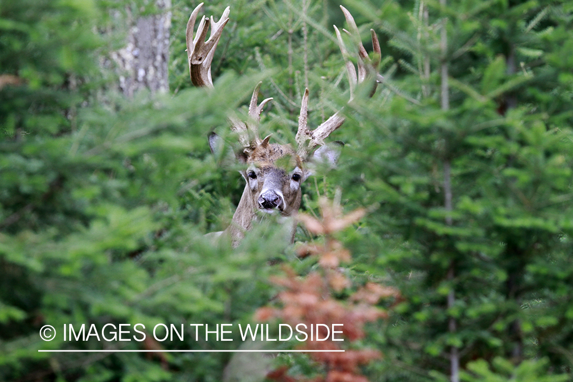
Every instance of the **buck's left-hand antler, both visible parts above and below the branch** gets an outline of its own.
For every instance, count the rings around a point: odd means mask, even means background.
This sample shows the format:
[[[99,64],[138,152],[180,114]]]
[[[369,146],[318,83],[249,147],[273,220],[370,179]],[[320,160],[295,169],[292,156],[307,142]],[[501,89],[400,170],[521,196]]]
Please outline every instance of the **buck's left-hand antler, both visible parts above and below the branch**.
[[[214,21],[213,16],[209,19],[208,17],[203,17],[201,22],[199,22],[199,27],[197,28],[197,34],[195,38],[193,37],[193,30],[195,28],[195,21],[197,20],[197,15],[203,3],[199,4],[189,17],[187,22],[187,30],[185,33],[186,43],[187,43],[187,59],[189,61],[189,76],[191,77],[191,82],[193,85],[199,87],[213,88],[213,80],[211,79],[211,63],[213,62],[213,56],[215,54],[215,48],[221,38],[223,32],[223,27],[229,21],[230,7],[226,7],[225,11],[219,19],[218,22]],[[209,40],[205,41],[207,37],[207,29],[211,26],[211,34]],[[254,88],[253,96],[251,97],[249,105],[249,120],[244,123],[237,117],[229,117],[231,122],[231,129],[238,133],[238,139],[241,145],[243,145],[245,151],[249,151],[254,145],[261,144],[261,140],[258,137],[258,122],[261,119],[262,108],[268,101],[272,98],[263,100],[257,105],[258,90],[261,87],[261,82],[257,84]],[[253,139],[249,137],[249,131],[253,136]]]

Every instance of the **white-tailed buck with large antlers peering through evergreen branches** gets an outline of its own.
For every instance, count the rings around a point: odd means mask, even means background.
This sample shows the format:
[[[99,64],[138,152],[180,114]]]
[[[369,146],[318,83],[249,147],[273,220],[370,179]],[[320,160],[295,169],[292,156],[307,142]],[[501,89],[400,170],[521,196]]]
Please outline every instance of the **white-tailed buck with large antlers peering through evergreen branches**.
[[[203,3],[199,4],[193,10],[189,22],[187,22],[186,41],[189,74],[195,86],[213,88],[211,62],[223,27],[229,21],[229,7],[225,9],[218,22],[215,22],[213,17],[203,17],[197,33],[193,37],[195,21],[202,5]],[[356,41],[358,45],[358,73],[356,73],[355,66],[350,61],[348,51],[342,41],[342,36],[340,36],[340,31],[335,26],[340,50],[346,62],[350,82],[350,99],[352,100],[355,85],[363,82],[366,78],[374,79],[372,81],[372,94],[374,94],[376,78],[379,78],[379,74],[375,70],[380,62],[380,45],[374,30],[371,30],[372,45],[375,52],[374,60],[371,60],[360,42],[358,27],[356,27],[354,18],[343,6],[340,8],[346,17],[350,31],[343,30],[350,34],[353,41]],[[211,26],[211,33],[209,39],[206,40],[209,26]],[[311,175],[308,162],[312,160],[336,162],[337,149],[325,145],[324,139],[344,123],[344,116],[339,111],[317,128],[309,130],[307,126],[308,89],[306,89],[300,108],[299,129],[295,138],[297,149],[293,149],[288,144],[270,143],[270,135],[261,140],[258,136],[260,114],[264,105],[272,99],[269,98],[260,104],[257,103],[260,85],[258,84],[253,91],[249,105],[249,119],[242,122],[236,117],[230,118],[231,129],[237,133],[241,145],[241,149],[236,155],[237,160],[244,163],[246,167],[246,170],[241,171],[241,175],[246,180],[245,191],[243,191],[241,201],[233,215],[231,225],[223,231],[223,233],[230,235],[233,246],[237,246],[244,237],[245,231],[251,229],[252,220],[256,219],[258,211],[279,212],[282,216],[296,214],[301,202],[300,185]],[[209,146],[211,151],[216,152],[222,146],[221,138],[211,133]],[[291,241],[294,239],[296,224],[294,223],[295,220],[292,220]]]

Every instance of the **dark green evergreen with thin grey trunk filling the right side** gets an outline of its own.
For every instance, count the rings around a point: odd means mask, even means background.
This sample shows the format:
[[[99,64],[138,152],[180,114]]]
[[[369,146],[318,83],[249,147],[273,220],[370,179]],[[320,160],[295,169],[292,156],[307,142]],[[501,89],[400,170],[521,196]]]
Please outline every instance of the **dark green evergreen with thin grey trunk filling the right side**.
[[[339,179],[380,204],[361,267],[407,295],[379,337],[384,375],[570,375],[571,62],[554,60],[571,54],[570,4],[356,7],[398,50]]]

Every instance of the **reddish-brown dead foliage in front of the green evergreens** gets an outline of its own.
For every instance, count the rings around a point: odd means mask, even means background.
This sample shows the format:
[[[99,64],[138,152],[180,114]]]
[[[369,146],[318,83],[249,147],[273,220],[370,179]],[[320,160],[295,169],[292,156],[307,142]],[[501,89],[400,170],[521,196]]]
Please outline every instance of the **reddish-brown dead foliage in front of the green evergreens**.
[[[350,251],[342,243],[333,238],[333,233],[345,229],[357,222],[364,210],[356,210],[348,215],[342,215],[340,206],[320,201],[322,219],[300,214],[299,220],[314,234],[325,235],[324,245],[305,245],[299,248],[299,255],[316,255],[320,266],[319,271],[313,271],[304,277],[299,277],[289,267],[283,267],[284,276],[273,277],[271,281],[280,286],[278,293],[279,308],[266,306],[256,313],[257,320],[268,321],[276,318],[293,328],[297,324],[305,324],[316,328],[316,324],[325,324],[332,328],[337,326],[343,334],[337,333],[336,338],[344,341],[332,341],[332,336],[325,341],[301,342],[299,349],[305,350],[339,350],[344,352],[312,352],[309,357],[322,365],[324,375],[313,379],[288,375],[288,368],[281,367],[269,373],[268,378],[278,382],[367,382],[360,375],[360,365],[365,365],[382,354],[372,349],[351,349],[352,341],[359,340],[365,335],[364,324],[386,318],[387,313],[378,307],[381,298],[398,298],[399,293],[394,288],[368,282],[345,300],[337,300],[333,293],[351,288],[352,282],[343,270],[339,269],[341,262],[350,262]],[[320,338],[327,336],[327,329],[319,326]],[[350,343],[349,343],[350,342]]]

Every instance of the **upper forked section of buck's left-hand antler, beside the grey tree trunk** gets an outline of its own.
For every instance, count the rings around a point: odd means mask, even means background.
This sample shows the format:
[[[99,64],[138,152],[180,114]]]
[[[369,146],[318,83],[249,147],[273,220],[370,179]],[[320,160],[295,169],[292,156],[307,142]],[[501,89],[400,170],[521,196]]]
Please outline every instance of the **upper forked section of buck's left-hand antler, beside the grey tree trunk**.
[[[230,8],[226,7],[218,22],[214,22],[214,18],[212,16],[211,19],[203,17],[199,23],[197,34],[195,35],[195,38],[193,38],[195,21],[197,21],[197,15],[199,14],[199,10],[202,6],[203,3],[200,3],[191,13],[189,21],[187,22],[187,30],[185,32],[187,59],[189,61],[189,76],[191,77],[193,85],[213,88],[213,80],[211,80],[211,62],[213,62],[215,47],[219,42],[219,38],[221,38],[223,27],[225,27],[226,23],[229,21]],[[211,24],[209,40],[205,41],[207,29],[209,29]]]

